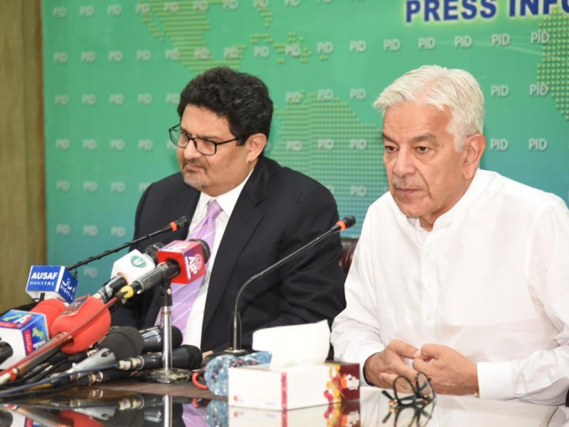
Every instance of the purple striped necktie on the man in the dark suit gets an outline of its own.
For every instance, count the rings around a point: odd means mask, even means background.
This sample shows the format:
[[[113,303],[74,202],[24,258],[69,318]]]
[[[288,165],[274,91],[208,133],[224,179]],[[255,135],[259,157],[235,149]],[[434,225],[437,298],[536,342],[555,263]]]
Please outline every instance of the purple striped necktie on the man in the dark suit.
[[[211,199],[208,203],[208,215],[206,218],[198,223],[188,236],[191,238],[201,238],[201,240],[208,243],[210,251],[213,249],[213,240],[216,237],[216,218],[223,211],[218,202]],[[173,283],[172,288],[172,325],[181,330],[182,334],[186,330],[186,323],[188,322],[188,315],[190,315],[191,306],[196,300],[198,290],[200,289],[203,275],[198,280],[194,280],[189,285],[179,285]]]

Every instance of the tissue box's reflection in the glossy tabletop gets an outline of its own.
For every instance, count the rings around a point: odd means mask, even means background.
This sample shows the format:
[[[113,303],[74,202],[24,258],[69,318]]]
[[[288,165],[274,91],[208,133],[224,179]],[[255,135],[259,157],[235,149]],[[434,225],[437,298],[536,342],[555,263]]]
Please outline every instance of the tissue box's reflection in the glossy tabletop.
[[[361,425],[360,401],[338,402],[328,406],[267,411],[265,409],[231,408],[229,427],[329,427]]]

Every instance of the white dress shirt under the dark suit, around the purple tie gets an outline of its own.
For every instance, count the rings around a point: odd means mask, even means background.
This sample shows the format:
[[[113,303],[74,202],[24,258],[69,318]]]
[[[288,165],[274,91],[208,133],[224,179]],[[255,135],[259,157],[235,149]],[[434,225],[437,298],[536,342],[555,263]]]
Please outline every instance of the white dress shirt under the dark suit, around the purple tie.
[[[196,228],[198,223],[200,223],[203,218],[206,218],[206,215],[208,214],[208,202],[211,199],[216,199],[223,211],[221,211],[216,218],[216,237],[213,239],[213,248],[210,248],[211,254],[208,261],[208,270],[206,271],[206,275],[204,276],[203,282],[201,283],[200,289],[198,290],[196,300],[193,302],[193,305],[191,307],[182,344],[191,344],[195,345],[196,347],[201,347],[203,312],[206,310],[206,298],[208,296],[209,279],[211,278],[213,264],[216,262],[216,254],[219,248],[219,243],[223,237],[223,233],[225,233],[225,228],[229,222],[229,217],[233,213],[237,199],[239,199],[241,191],[243,190],[245,183],[248,181],[249,176],[251,176],[251,173],[252,171],[241,184],[225,194],[221,194],[217,197],[208,196],[208,194],[203,192],[200,194],[200,199],[198,200],[196,211],[193,212],[193,217],[191,218],[188,236],[193,228]],[[158,317],[160,317],[160,315],[158,315]],[[227,327],[229,328],[229,325],[227,325]]]

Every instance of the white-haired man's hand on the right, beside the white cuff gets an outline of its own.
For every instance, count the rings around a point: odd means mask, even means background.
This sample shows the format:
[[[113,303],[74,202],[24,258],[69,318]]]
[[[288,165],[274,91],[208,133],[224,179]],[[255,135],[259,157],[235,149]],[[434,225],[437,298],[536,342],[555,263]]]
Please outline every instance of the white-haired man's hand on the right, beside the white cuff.
[[[474,394],[478,391],[476,364],[456,350],[440,344],[425,344],[413,361],[417,371],[425,372],[439,394]]]

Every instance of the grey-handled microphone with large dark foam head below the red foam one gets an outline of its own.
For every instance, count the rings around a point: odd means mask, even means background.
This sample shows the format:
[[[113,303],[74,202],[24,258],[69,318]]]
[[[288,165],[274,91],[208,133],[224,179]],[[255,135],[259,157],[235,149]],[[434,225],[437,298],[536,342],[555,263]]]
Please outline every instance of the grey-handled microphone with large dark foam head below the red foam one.
[[[70,381],[74,381],[87,375],[86,372],[79,374],[79,371],[96,371],[100,367],[115,364],[117,360],[138,356],[142,353],[143,348],[144,339],[142,339],[140,332],[134,327],[120,327],[107,334],[100,343],[98,352],[68,369],[65,373],[74,374],[70,376]],[[57,375],[60,374],[55,374],[55,376]]]

